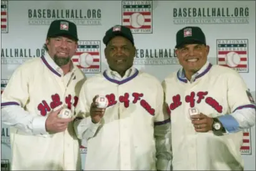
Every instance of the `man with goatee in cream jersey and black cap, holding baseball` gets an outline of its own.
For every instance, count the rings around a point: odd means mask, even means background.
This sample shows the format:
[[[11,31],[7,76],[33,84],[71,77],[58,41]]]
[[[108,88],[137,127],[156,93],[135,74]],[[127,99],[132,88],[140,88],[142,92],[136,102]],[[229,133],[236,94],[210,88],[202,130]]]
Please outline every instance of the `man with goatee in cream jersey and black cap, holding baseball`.
[[[77,26],[65,20],[50,24],[47,53],[23,63],[1,97],[1,120],[11,126],[12,170],[81,170],[73,117],[85,75],[71,62],[77,49]]]

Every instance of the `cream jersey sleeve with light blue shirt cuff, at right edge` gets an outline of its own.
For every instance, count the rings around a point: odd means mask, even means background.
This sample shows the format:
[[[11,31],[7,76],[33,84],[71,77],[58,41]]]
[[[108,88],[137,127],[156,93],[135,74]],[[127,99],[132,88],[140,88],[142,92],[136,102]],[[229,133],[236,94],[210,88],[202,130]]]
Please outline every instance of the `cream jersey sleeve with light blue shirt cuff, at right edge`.
[[[230,114],[220,116],[227,133],[242,131],[255,124],[255,103],[244,80],[237,72],[227,77],[227,101]]]

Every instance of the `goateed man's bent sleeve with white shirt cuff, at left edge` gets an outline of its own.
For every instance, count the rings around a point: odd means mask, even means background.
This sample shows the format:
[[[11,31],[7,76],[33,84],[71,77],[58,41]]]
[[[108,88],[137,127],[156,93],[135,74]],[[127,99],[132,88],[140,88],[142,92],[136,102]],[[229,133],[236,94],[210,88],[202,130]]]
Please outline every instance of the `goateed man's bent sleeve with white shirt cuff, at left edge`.
[[[46,135],[46,117],[29,113],[24,108],[29,100],[29,72],[18,67],[1,95],[1,121],[27,134]]]

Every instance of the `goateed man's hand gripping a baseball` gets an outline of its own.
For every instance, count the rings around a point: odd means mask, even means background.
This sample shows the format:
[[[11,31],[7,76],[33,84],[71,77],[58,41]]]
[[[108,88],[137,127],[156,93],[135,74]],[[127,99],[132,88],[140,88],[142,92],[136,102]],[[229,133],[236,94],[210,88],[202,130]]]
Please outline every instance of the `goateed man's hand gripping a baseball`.
[[[56,133],[56,132],[62,132],[67,129],[67,126],[69,125],[69,122],[73,121],[72,118],[68,119],[62,119],[58,118],[58,114],[63,108],[60,108],[56,111],[52,111],[47,116],[47,119],[45,121],[45,129],[47,132],[50,133]]]

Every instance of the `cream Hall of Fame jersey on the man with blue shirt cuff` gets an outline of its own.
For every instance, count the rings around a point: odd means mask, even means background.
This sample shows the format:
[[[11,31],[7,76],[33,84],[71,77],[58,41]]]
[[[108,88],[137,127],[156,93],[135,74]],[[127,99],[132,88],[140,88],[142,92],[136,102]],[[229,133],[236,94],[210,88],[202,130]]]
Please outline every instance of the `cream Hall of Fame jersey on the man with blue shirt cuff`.
[[[209,62],[191,81],[183,74],[181,69],[163,81],[171,114],[173,170],[242,170],[242,128],[253,126],[255,122],[255,104],[247,96],[244,81],[234,70]],[[196,132],[189,118],[189,108],[221,118],[229,134]],[[239,115],[240,120],[231,114]],[[250,120],[249,126],[243,124]]]

